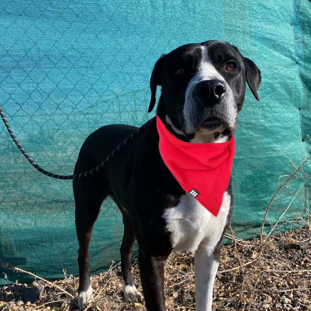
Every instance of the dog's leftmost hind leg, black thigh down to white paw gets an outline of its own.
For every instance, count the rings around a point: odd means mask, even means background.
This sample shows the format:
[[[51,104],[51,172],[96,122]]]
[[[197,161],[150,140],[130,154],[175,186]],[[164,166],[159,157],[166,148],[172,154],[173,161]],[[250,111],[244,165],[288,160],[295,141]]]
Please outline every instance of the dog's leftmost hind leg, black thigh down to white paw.
[[[86,177],[89,178],[89,177]],[[97,191],[98,180],[78,180],[73,183],[73,192],[76,203],[76,230],[79,242],[79,288],[78,305],[83,309],[93,299],[93,290],[90,283],[90,255],[89,244],[93,225],[104,200],[103,192]],[[102,185],[102,183],[100,183]]]

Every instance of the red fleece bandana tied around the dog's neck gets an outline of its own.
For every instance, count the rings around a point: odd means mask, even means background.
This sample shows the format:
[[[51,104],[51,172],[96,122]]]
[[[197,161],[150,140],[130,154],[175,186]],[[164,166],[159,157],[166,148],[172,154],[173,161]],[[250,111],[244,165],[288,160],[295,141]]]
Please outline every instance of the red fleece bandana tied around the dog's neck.
[[[228,142],[192,143],[176,138],[156,117],[160,155],[180,186],[217,217],[234,158],[233,134]]]

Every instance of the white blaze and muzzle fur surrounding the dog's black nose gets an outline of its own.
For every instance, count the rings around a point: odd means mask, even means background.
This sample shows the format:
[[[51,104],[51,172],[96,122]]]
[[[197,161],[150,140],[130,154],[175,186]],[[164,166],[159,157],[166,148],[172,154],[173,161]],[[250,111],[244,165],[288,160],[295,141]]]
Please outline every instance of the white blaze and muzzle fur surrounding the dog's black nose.
[[[207,47],[201,46],[201,50],[201,62],[198,66],[197,73],[190,80],[185,93],[183,114],[185,118],[186,131],[188,133],[197,131],[199,129],[198,123],[202,120],[202,116],[200,115],[202,114],[202,109],[198,109],[197,100],[193,96],[196,85],[202,81],[214,79],[222,81],[225,84],[227,91],[220,103],[213,107],[212,114],[207,117],[220,118],[221,120],[224,120],[226,125],[230,128],[235,129],[238,112],[233,92],[224,77],[213,66],[212,60],[209,58],[207,53]]]

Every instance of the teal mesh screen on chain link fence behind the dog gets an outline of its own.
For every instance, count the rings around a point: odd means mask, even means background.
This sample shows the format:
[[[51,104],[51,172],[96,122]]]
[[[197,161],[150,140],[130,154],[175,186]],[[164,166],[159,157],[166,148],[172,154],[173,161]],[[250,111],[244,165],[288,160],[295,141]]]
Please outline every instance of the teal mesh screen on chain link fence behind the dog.
[[[149,78],[161,54],[207,39],[237,45],[263,78],[261,102],[247,90],[236,133],[232,226],[249,238],[260,230],[280,175],[289,174],[290,161],[299,163],[309,147],[306,51],[311,47],[305,12],[311,12],[308,1],[1,1],[1,105],[35,162],[69,175],[81,144],[95,129],[109,123],[140,126],[154,115],[147,114]],[[305,181],[294,182],[291,196],[274,205],[267,228],[293,195],[287,220],[305,217],[305,189],[299,188]],[[92,271],[119,259],[123,225],[113,205],[105,202],[95,225]],[[3,262],[46,278],[61,277],[63,268],[77,275],[72,183],[37,172],[4,124],[0,208]],[[2,272],[13,282],[29,280],[0,270],[0,284],[6,282]]]

